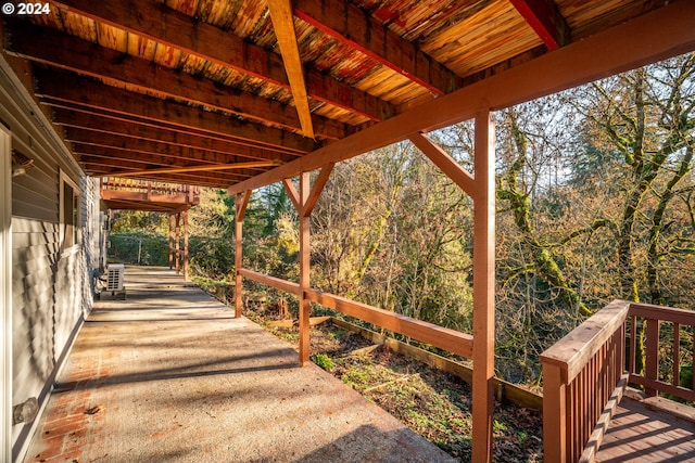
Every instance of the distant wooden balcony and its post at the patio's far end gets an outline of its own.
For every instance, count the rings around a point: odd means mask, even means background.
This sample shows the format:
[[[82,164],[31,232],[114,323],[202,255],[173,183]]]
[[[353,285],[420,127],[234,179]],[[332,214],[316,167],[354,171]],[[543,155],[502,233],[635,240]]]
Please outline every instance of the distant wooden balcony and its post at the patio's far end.
[[[200,204],[200,188],[151,180],[102,177],[101,200],[110,210],[148,210],[168,215],[169,268],[188,280],[188,209]],[[180,249],[181,222],[184,248]]]

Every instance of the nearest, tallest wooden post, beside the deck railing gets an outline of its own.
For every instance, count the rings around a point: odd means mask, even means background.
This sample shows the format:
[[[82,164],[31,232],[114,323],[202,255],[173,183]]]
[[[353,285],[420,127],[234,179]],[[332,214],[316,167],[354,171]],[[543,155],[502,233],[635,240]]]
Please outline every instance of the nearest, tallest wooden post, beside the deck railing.
[[[476,115],[473,195],[472,461],[492,461],[495,351],[495,139],[490,111]]]

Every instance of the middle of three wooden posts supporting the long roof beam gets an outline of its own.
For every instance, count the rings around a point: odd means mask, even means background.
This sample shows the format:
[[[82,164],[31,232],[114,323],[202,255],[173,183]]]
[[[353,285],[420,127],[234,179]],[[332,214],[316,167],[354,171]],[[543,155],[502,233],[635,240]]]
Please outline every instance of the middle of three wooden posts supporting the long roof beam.
[[[305,205],[311,192],[309,172],[300,175],[300,364],[305,365],[309,357],[309,311],[311,303],[304,293],[309,288],[309,218]]]

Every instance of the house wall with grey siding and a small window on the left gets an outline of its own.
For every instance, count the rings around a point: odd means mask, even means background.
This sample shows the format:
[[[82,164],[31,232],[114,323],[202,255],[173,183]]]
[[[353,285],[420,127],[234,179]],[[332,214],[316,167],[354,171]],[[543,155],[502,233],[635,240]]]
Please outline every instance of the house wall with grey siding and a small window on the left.
[[[12,132],[13,150],[34,159],[26,173],[12,179],[12,404],[35,397],[43,406],[92,307],[99,188],[84,177],[2,57],[0,121]],[[71,248],[61,243],[61,178],[79,191],[81,243]],[[22,456],[35,424],[12,426],[13,460]]]

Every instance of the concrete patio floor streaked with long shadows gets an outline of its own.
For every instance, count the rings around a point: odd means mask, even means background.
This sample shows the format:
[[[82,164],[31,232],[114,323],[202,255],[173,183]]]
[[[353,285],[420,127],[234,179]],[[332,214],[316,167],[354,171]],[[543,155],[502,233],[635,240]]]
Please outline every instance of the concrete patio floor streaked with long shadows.
[[[168,269],[126,269],[40,417],[27,462],[453,459]]]

